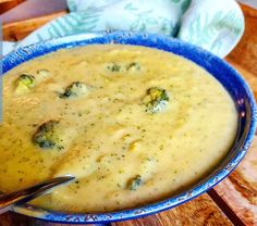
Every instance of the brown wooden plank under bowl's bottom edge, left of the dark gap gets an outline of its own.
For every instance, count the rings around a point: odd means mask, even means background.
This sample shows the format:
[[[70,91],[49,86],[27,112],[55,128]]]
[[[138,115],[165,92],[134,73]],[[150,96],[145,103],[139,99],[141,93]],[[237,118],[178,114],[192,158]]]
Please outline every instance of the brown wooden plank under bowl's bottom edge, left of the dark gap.
[[[213,203],[208,194],[203,194],[170,211],[147,217],[113,223],[112,226],[195,226],[195,225],[232,225],[227,216]]]

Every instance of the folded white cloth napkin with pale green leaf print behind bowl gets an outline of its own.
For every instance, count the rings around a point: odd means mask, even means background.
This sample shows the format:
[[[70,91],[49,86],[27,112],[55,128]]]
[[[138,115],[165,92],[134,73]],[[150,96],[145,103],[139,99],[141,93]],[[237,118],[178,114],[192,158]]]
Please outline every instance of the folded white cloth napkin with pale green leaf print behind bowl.
[[[197,45],[223,58],[244,32],[234,0],[68,0],[70,14],[59,17],[15,45],[100,30],[162,34]],[[4,53],[12,50],[3,46]]]

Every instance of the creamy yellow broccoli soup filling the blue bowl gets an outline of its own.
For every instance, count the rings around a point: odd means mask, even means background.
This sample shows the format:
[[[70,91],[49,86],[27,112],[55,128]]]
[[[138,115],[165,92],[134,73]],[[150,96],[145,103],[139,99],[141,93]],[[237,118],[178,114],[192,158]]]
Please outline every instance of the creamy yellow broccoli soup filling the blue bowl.
[[[105,212],[197,181],[230,149],[237,114],[225,89],[175,54],[122,45],[59,50],[3,77],[0,190],[76,179],[34,201]]]

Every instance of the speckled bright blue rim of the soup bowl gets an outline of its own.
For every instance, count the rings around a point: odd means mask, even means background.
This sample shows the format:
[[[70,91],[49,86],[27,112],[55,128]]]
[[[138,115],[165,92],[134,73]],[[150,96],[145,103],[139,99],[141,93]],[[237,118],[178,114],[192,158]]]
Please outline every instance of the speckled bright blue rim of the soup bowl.
[[[223,178],[225,178],[244,158],[254,138],[255,129],[256,129],[257,109],[256,109],[256,103],[255,103],[255,98],[253,96],[253,92],[250,91],[250,88],[247,85],[247,83],[244,80],[244,78],[227,62],[224,62],[222,59],[194,45],[187,43],[179,39],[155,35],[155,34],[146,34],[146,33],[135,34],[135,33],[130,33],[130,32],[114,32],[114,33],[101,32],[101,33],[73,35],[73,36],[59,38],[56,40],[49,40],[49,41],[23,47],[23,48],[17,49],[14,52],[9,53],[0,62],[3,65],[3,73],[5,73],[9,70],[13,68],[14,66],[25,61],[28,61],[30,59],[40,56],[49,52],[53,52],[58,49],[86,46],[90,43],[99,43],[97,42],[98,38],[105,39],[106,42],[102,42],[102,43],[112,43],[113,42],[112,38],[114,37],[115,38],[117,37],[135,38],[135,40],[138,38],[145,38],[145,39],[151,39],[151,40],[156,39],[156,40],[162,40],[164,42],[172,42],[174,45],[182,45],[184,48],[187,48],[188,50],[195,52],[199,56],[205,55],[207,60],[208,58],[213,59],[216,62],[223,65],[227,71],[230,71],[230,73],[232,73],[233,76],[236,77],[237,81],[245,90],[246,96],[247,96],[246,98],[249,101],[250,122],[249,122],[249,127],[247,130],[247,135],[244,139],[243,146],[240,148],[240,151],[237,151],[237,153],[230,160],[230,162],[227,165],[219,168],[217,172],[212,173],[213,175],[212,174],[208,175],[206,177],[207,179],[204,179],[204,181],[197,183],[196,185],[192,186],[189,190],[183,191],[176,196],[172,196],[171,198],[168,198],[163,201],[158,201],[151,204],[147,204],[145,206],[138,206],[138,208],[133,208],[133,209],[118,211],[118,212],[110,212],[110,213],[84,214],[84,213],[61,213],[61,212],[56,212],[56,211],[42,210],[40,208],[24,204],[24,205],[14,206],[13,208],[14,212],[25,214],[32,217],[40,218],[44,221],[56,222],[56,223],[73,223],[73,224],[110,223],[110,222],[125,221],[125,219],[142,217],[142,216],[146,216],[149,214],[154,214],[160,211],[174,208],[179,204],[189,201],[193,198],[196,198],[199,194],[206,192],[211,187],[220,183]],[[91,42],[85,42],[88,40],[91,40]],[[145,45],[143,43],[139,46],[145,46]],[[154,47],[154,48],[161,49],[158,47]],[[180,54],[180,53],[175,53],[175,54]],[[186,58],[186,55],[182,55],[182,56]]]

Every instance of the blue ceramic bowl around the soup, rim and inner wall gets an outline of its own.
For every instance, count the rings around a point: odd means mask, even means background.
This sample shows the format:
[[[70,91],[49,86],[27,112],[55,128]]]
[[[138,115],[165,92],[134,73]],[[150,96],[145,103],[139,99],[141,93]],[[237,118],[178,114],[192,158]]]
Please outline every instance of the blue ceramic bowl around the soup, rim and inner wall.
[[[234,100],[238,113],[238,128],[235,141],[227,156],[220,162],[219,165],[217,165],[211,174],[205,178],[201,178],[187,190],[152,204],[119,212],[96,214],[61,213],[42,210],[28,204],[14,206],[13,211],[28,216],[60,223],[105,224],[114,221],[135,218],[174,208],[201,194],[203,192],[206,192],[212,186],[227,177],[241,162],[247,149],[249,148],[255,134],[257,112],[253,93],[241,75],[228,63],[215,56],[213,54],[184,41],[158,35],[133,34],[126,32],[70,36],[28,46],[10,53],[2,59],[3,73],[25,61],[49,52],[62,48],[70,49],[91,43],[123,43],[157,48],[182,55],[206,68],[225,87]]]

